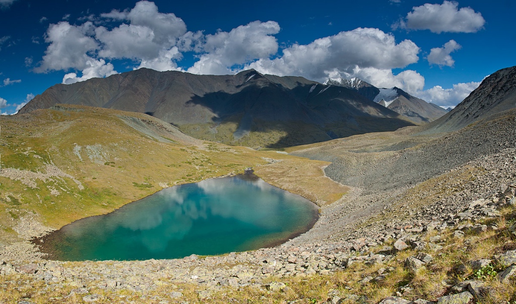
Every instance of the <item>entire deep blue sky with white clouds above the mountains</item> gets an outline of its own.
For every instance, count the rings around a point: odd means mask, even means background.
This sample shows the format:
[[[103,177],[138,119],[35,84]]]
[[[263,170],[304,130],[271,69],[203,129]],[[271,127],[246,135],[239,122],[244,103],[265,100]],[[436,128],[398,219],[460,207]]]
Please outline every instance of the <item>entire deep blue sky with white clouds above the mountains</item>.
[[[150,67],[359,77],[455,106],[516,65],[511,0],[0,0],[0,111],[56,83]]]

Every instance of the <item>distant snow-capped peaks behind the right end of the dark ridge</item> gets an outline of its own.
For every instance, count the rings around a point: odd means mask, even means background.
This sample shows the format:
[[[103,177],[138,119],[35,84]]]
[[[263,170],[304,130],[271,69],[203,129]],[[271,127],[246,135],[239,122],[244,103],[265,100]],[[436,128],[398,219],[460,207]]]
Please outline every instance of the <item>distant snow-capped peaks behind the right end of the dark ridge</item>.
[[[359,78],[330,78],[324,84],[355,90],[360,95],[407,117],[416,124],[432,122],[448,112],[399,88],[377,88]]]

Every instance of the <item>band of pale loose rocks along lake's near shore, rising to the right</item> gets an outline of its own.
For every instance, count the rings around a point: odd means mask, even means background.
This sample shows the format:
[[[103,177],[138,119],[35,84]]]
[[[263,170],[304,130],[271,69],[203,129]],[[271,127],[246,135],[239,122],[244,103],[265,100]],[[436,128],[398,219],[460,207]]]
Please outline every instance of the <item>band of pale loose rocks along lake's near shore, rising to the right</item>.
[[[428,245],[439,250],[438,239],[428,244],[421,242],[423,235],[431,230],[450,227],[462,232],[467,229],[490,229],[474,225],[460,227],[458,224],[465,220],[474,222],[484,217],[496,217],[499,215],[497,208],[515,204],[515,152],[514,148],[506,148],[450,170],[448,173],[453,175],[453,172],[464,167],[479,167],[485,174],[479,174],[464,184],[460,191],[443,196],[427,206],[400,205],[397,199],[406,189],[376,196],[360,196],[355,189],[354,200],[343,200],[322,209],[314,228],[273,248],[232,252],[216,257],[192,255],[184,259],[148,261],[62,262],[48,261],[34,255],[31,259],[23,255],[19,255],[19,258],[2,255],[0,275],[22,274],[44,282],[46,288],[51,289],[74,286],[73,292],[79,294],[88,294],[91,288],[145,292],[163,284],[175,283],[204,286],[208,292],[200,295],[201,299],[209,296],[210,291],[227,286],[280,290],[284,288],[281,282],[262,282],[271,276],[331,275],[354,261],[385,262],[405,246],[417,248]],[[422,191],[420,195],[428,193]],[[388,216],[393,211],[396,216]],[[375,215],[378,217],[367,223],[367,219]],[[31,226],[27,227],[31,229]],[[370,248],[390,239],[394,241],[393,247],[369,252]],[[32,250],[25,245],[14,249],[14,254]]]

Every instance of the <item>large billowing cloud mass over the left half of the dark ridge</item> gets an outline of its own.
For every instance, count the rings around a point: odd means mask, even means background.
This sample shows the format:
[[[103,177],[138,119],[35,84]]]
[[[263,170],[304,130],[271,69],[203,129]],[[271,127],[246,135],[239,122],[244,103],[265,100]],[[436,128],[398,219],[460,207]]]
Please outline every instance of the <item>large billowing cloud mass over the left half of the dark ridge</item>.
[[[63,83],[73,83],[116,74],[110,59],[131,59],[138,67],[159,71],[181,70],[176,61],[182,54],[176,44],[194,45],[200,37],[199,33],[187,33],[183,20],[173,13],[160,13],[149,1],[101,16],[121,24],[113,28],[95,26],[91,21],[51,24],[45,35],[49,45],[34,71],[72,70],[63,77]]]

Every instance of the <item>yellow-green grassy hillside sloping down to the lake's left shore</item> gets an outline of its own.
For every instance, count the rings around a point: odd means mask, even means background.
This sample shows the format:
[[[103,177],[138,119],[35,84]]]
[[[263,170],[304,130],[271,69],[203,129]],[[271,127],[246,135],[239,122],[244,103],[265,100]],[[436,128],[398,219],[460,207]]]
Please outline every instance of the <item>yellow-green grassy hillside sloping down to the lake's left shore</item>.
[[[175,184],[237,174],[272,161],[301,162],[274,151],[203,142],[149,115],[103,108],[57,106],[1,116],[0,126],[0,243],[17,240],[22,219],[59,228]],[[327,165],[302,162],[311,176],[322,176],[319,167]],[[295,179],[307,176],[305,171]],[[261,176],[285,186],[272,172]],[[335,187],[329,190],[336,193],[334,201],[346,192],[335,182],[323,182],[327,185],[310,182],[295,193],[310,197],[310,187]],[[321,204],[330,199],[310,198]]]

